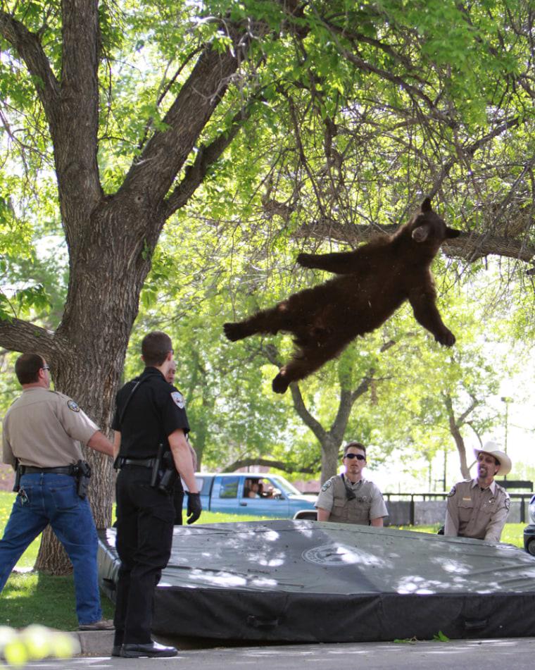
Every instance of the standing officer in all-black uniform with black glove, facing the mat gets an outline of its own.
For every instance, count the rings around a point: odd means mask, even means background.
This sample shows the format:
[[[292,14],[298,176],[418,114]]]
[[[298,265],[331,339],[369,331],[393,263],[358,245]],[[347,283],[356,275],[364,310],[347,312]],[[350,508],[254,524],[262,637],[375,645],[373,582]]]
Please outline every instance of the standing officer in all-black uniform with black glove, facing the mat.
[[[120,469],[116,548],[121,561],[112,655],[170,657],[177,655],[175,647],[164,647],[151,638],[154,589],[170,557],[175,518],[174,481],[168,490],[158,488],[165,466],[156,481],[153,476],[162,447],[170,467],[175,466],[189,489],[188,523],[199,519],[201,499],[186,440],[184,397],[165,380],[174,364],[170,337],[159,331],[149,333],[141,342],[141,354],[146,368],[118,392],[112,424]]]

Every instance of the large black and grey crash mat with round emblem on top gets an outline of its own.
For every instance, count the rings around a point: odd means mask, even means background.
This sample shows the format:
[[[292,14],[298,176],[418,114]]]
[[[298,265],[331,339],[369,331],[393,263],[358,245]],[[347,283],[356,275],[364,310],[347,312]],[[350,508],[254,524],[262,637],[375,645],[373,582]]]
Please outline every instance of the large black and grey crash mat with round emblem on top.
[[[113,598],[115,529],[100,533]],[[523,637],[535,558],[510,545],[317,521],[175,526],[156,588],[160,635],[363,642]]]

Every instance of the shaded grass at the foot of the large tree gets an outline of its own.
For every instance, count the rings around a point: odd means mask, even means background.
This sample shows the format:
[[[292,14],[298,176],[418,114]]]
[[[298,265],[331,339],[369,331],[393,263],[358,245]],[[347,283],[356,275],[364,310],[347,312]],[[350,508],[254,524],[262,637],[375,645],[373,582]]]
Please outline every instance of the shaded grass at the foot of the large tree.
[[[113,618],[113,603],[101,595],[105,619]],[[11,573],[0,597],[0,623],[13,628],[42,624],[59,631],[78,628],[73,576],[37,572]]]

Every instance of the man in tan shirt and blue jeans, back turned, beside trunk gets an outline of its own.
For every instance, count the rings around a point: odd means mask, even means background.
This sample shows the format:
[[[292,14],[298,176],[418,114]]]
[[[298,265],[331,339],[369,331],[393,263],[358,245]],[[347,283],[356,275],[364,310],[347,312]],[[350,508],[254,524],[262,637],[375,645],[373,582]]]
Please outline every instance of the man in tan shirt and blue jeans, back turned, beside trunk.
[[[102,619],[96,564],[98,541],[89,502],[77,495],[80,442],[97,452],[113,445],[78,405],[49,390],[49,366],[39,354],[15,363],[23,395],[4,417],[4,463],[18,467],[20,489],[0,540],[0,591],[26,547],[50,523],[73,564],[76,614],[80,630],[113,628]]]

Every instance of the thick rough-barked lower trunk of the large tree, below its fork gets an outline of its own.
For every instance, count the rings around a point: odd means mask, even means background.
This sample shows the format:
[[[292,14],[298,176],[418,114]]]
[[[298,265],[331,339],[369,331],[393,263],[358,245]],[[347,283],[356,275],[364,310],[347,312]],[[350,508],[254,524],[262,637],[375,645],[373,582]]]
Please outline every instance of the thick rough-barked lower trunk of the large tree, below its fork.
[[[99,225],[105,221],[109,227],[115,221],[115,244],[94,248],[90,241],[83,240],[79,246],[77,263],[83,270],[73,274],[73,287],[53,350],[35,349],[49,361],[56,390],[72,397],[105,434],[111,424],[139,293],[149,271],[149,261],[143,259],[141,249],[128,235],[134,224],[124,211],[119,217],[118,210],[124,210],[120,202],[110,203],[97,219]],[[86,230],[94,228],[97,221],[91,221]],[[119,244],[122,254],[118,255]],[[136,256],[137,262],[132,263]],[[84,459],[92,468],[88,497],[96,527],[106,528],[111,526],[114,500],[112,459],[88,448],[84,449]],[[50,529],[43,534],[35,569],[51,574],[70,571],[65,552]]]

